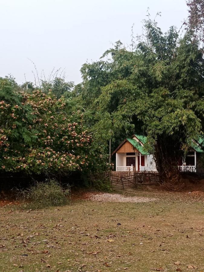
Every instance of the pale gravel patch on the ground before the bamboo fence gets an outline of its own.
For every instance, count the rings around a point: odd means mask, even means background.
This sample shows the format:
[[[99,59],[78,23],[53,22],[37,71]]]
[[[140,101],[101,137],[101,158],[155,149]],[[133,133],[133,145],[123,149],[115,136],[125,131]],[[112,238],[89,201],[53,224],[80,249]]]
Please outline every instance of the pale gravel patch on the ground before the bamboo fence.
[[[139,196],[126,197],[120,194],[109,194],[109,193],[91,194],[88,199],[92,201],[99,201],[99,202],[131,202],[131,203],[152,202],[157,200],[156,198],[139,197]]]

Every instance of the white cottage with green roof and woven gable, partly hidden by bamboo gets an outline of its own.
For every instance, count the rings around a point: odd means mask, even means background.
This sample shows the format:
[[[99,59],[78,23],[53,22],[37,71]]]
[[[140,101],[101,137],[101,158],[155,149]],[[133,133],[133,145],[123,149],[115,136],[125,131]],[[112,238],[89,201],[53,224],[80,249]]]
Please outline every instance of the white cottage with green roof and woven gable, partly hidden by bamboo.
[[[116,171],[157,171],[154,157],[144,151],[146,136],[134,134],[125,139],[112,153],[116,153]],[[193,148],[186,156],[185,162],[178,166],[181,171],[196,172],[196,156],[200,158],[203,150],[194,143]]]

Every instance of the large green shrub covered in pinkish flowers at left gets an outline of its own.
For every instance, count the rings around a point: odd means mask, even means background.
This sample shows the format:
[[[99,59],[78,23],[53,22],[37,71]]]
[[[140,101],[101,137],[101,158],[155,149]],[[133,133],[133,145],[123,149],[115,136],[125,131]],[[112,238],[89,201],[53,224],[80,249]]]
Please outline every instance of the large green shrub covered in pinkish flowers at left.
[[[31,94],[0,81],[0,167],[27,173],[104,171],[108,155],[73,102],[41,90]]]

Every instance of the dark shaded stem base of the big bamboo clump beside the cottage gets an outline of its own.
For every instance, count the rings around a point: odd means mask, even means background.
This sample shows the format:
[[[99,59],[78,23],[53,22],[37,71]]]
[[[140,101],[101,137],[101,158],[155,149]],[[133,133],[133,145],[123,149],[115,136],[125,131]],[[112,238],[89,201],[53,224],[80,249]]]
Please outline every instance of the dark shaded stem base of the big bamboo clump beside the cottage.
[[[176,135],[160,135],[154,147],[154,159],[162,183],[175,185],[180,181],[179,161],[183,157],[181,143]]]

